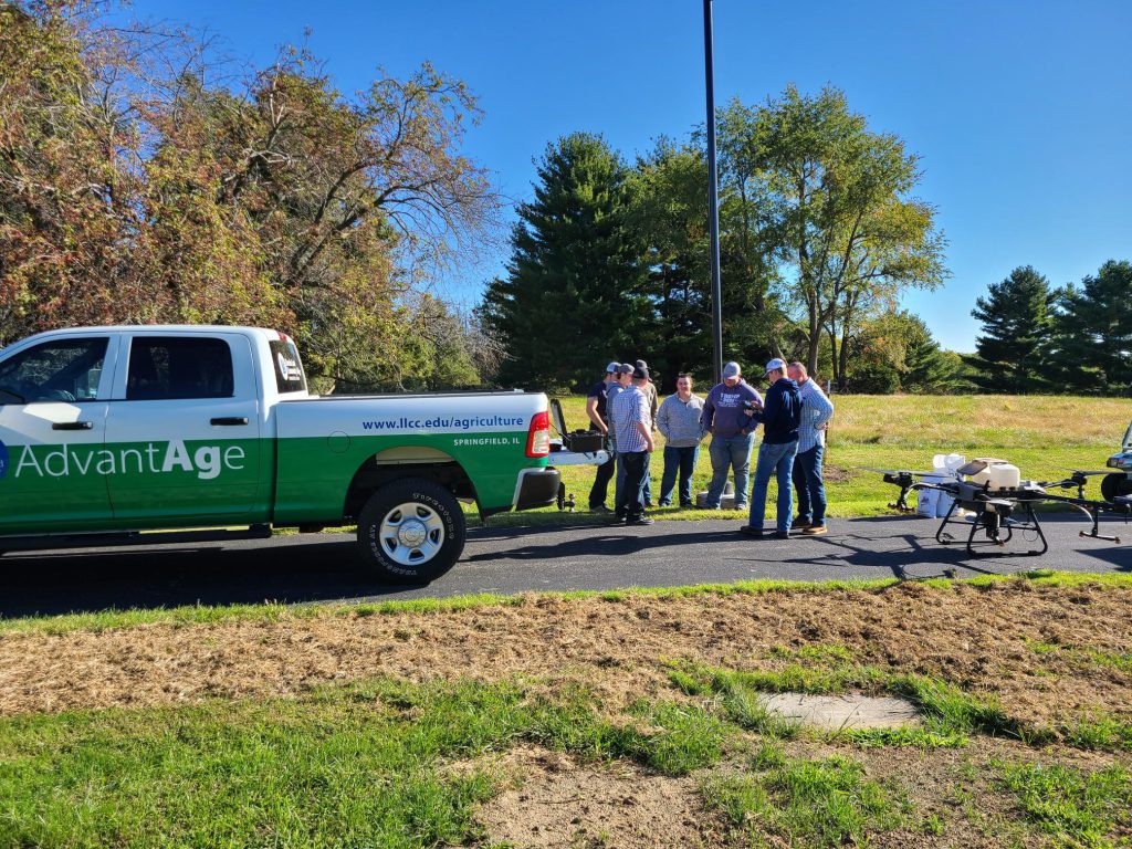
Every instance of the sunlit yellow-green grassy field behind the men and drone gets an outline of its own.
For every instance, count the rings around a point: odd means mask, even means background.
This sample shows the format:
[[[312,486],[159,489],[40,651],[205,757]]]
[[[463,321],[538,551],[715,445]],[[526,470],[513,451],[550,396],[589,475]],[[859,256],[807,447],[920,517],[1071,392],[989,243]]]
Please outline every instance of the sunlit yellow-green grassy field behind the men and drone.
[[[585,398],[561,398],[566,423],[586,423]],[[1118,448],[1132,419],[1132,400],[1089,400],[1013,395],[843,395],[834,397],[837,414],[829,431],[825,455],[831,516],[884,514],[897,490],[868,466],[929,470],[935,454],[957,452],[974,457],[1000,457],[1014,463],[1022,477],[1053,480],[1074,469],[1103,469]],[[1084,412],[1087,410],[1087,412]],[[761,431],[760,431],[761,432]],[[663,460],[658,453],[651,468],[653,500],[660,497]],[[693,491],[707,488],[711,461],[706,441],[693,479]],[[757,448],[756,448],[757,451]],[[752,462],[752,469],[754,463]],[[593,470],[566,469],[568,491],[585,511]],[[1090,486],[1099,497],[1099,484]],[[775,487],[771,484],[767,516],[773,516]],[[612,506],[612,492],[607,504]],[[507,514],[491,524],[554,522],[557,511]],[[704,518],[703,511],[670,507],[655,509],[655,518]],[[718,515],[718,514],[717,514]]]

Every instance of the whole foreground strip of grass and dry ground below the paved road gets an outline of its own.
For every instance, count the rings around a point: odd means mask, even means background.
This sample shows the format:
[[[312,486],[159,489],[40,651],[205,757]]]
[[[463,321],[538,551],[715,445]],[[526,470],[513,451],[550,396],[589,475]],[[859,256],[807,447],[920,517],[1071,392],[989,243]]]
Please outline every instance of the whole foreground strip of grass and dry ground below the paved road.
[[[0,847],[1127,846],[1130,582],[25,621]],[[818,729],[781,692],[919,721]]]

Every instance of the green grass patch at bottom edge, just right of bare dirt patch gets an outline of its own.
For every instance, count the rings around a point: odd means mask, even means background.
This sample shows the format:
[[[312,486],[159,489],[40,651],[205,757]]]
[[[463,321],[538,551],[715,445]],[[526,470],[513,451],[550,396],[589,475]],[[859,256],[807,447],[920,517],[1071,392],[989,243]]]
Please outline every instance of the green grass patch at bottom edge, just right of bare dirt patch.
[[[899,788],[866,779],[855,761],[792,760],[774,746],[758,752],[749,774],[709,780],[702,792],[752,846],[767,844],[766,834],[792,847],[863,846],[904,826],[911,809]]]

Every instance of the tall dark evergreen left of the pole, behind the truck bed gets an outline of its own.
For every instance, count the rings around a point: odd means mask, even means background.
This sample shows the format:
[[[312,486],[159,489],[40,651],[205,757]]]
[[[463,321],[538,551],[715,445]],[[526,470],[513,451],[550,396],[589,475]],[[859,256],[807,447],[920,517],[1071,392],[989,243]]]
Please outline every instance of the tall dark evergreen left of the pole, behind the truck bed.
[[[610,359],[643,355],[651,305],[631,203],[629,171],[600,136],[547,146],[534,199],[518,207],[507,277],[484,295],[508,352],[501,383],[581,387]]]

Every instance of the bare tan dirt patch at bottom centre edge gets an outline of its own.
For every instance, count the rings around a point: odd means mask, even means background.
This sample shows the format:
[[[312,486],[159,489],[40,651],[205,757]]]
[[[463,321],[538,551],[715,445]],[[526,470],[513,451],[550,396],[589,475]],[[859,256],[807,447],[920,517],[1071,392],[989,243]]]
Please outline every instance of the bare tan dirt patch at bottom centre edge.
[[[704,813],[694,778],[653,775],[625,762],[581,765],[561,753],[529,747],[507,753],[497,766],[509,787],[477,817],[488,846],[720,846],[718,822]]]

